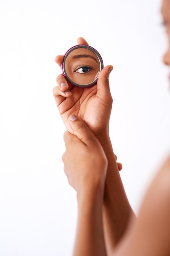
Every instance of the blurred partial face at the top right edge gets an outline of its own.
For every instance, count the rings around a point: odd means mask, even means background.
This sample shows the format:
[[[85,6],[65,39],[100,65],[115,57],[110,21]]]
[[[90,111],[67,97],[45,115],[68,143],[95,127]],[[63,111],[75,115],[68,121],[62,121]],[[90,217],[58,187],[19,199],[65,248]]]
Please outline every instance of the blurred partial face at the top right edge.
[[[170,66],[170,0],[163,0],[161,8],[163,24],[166,27],[166,33],[168,35],[168,49],[163,56],[163,62]],[[170,79],[170,76],[169,76]]]

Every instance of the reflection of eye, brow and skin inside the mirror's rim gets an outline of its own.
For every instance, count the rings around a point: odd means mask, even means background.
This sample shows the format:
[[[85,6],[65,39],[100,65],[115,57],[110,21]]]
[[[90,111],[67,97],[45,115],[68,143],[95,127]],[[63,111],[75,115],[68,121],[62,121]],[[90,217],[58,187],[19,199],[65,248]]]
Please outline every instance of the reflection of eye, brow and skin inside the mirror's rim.
[[[89,49],[75,49],[65,61],[65,70],[72,81],[85,85],[95,80],[100,70],[100,63]]]

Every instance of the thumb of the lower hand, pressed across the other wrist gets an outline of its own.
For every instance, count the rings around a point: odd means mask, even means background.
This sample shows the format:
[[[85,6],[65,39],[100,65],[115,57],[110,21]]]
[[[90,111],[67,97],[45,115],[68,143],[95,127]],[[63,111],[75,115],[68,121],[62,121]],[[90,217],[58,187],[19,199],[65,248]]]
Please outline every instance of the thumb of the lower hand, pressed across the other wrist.
[[[99,143],[98,139],[94,136],[93,132],[83,120],[78,119],[78,117],[75,115],[71,115],[69,119],[74,135],[76,135],[78,139],[80,139],[85,145],[88,146],[91,141],[96,141],[96,143]]]

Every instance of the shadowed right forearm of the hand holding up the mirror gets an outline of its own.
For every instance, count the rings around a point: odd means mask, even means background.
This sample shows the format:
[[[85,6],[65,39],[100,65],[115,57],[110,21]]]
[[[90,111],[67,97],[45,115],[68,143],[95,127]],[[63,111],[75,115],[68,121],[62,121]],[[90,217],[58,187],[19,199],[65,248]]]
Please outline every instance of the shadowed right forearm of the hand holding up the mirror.
[[[108,160],[103,202],[103,223],[107,252],[120,241],[134,215],[120,178],[109,135],[98,136]]]

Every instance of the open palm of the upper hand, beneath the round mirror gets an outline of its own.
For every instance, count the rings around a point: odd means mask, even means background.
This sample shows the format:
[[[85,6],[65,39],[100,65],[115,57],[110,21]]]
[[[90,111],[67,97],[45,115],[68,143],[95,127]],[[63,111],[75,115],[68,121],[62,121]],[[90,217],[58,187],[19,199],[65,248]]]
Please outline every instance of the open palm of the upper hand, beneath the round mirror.
[[[70,91],[71,97],[57,97],[57,106],[67,130],[73,133],[68,120],[70,115],[83,119],[95,135],[105,130],[111,107],[109,109],[107,101],[96,95],[97,85],[86,89],[73,87]]]

